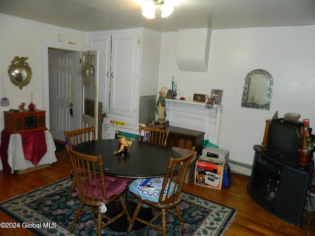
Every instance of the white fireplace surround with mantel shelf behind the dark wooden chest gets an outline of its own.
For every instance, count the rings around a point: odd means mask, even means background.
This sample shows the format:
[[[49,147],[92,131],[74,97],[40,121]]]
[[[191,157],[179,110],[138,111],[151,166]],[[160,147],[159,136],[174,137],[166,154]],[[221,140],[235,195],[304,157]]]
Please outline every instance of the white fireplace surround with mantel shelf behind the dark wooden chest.
[[[221,105],[206,109],[206,103],[166,100],[166,119],[171,126],[205,132],[204,139],[219,146]]]

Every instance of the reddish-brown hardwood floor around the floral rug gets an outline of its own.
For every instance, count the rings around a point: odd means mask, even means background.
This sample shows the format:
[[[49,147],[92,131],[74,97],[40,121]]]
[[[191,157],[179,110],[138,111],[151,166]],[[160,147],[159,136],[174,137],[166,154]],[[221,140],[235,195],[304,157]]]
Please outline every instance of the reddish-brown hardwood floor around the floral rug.
[[[30,172],[24,175],[17,175],[0,172],[0,202],[16,195],[24,194],[38,187],[69,176],[70,163],[64,151],[57,152],[56,163],[50,167]],[[306,215],[302,227],[291,225],[259,207],[248,195],[246,185],[250,177],[232,174],[230,188],[221,190],[198,186],[193,183],[185,184],[183,191],[193,195],[209,199],[216,203],[238,210],[238,213],[224,236],[315,236],[314,231],[307,232]],[[292,190],[294,191],[294,190]],[[288,206],[290,207],[290,206]],[[315,212],[313,212],[315,214]],[[315,216],[314,216],[315,217]],[[1,222],[14,222],[12,218],[0,211]],[[314,230],[314,219],[312,229]],[[0,229],[0,236],[34,234],[23,228]]]

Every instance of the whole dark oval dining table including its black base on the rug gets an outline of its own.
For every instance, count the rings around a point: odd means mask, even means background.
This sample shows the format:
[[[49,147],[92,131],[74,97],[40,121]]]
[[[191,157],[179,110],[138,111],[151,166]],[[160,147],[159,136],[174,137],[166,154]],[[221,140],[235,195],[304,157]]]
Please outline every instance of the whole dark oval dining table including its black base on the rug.
[[[92,140],[75,145],[72,149],[87,155],[102,155],[103,172],[107,176],[127,177],[127,178],[155,178],[164,177],[170,157],[180,158],[182,155],[172,148],[163,147],[161,145],[149,142],[133,140],[129,150],[125,153],[114,152],[119,150],[119,139],[100,139]],[[98,166],[95,166],[97,169]],[[100,170],[97,170],[100,171]],[[136,207],[136,203],[128,201],[125,195],[128,211],[132,215]],[[118,205],[107,205],[109,212],[122,210]],[[147,217],[152,217],[151,209],[141,207],[140,212]],[[110,213],[109,213],[110,214]],[[109,224],[108,228],[111,232],[126,232],[129,225],[125,217],[115,221],[115,224]],[[144,228],[144,224],[136,223],[134,230]],[[107,234],[107,227],[102,229],[102,234]]]

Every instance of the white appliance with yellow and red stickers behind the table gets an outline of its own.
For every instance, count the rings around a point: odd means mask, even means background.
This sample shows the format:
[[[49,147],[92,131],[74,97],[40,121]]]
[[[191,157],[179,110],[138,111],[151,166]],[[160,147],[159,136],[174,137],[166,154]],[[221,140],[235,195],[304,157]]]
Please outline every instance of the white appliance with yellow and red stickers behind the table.
[[[143,126],[145,126],[143,124]],[[128,138],[139,140],[139,123],[122,119],[103,118],[102,139]]]

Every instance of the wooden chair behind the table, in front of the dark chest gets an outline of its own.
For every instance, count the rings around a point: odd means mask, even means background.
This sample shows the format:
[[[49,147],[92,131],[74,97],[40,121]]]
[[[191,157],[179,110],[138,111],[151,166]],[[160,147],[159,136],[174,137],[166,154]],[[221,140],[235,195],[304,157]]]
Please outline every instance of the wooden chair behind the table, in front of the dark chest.
[[[143,130],[143,135],[141,134]],[[139,124],[139,140],[166,147],[169,129],[158,129]],[[143,137],[141,139],[141,137]]]

